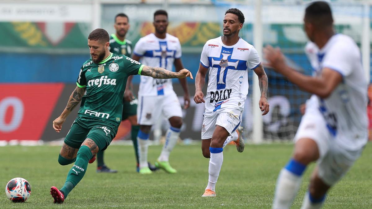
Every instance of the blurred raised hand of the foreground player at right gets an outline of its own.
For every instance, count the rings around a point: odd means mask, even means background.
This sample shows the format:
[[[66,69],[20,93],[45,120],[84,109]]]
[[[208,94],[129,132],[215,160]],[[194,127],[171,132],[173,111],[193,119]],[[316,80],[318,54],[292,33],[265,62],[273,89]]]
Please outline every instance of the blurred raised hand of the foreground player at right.
[[[278,73],[285,69],[285,57],[279,47],[273,48],[272,46],[267,45],[263,48],[263,54],[267,61],[264,65],[272,67]]]

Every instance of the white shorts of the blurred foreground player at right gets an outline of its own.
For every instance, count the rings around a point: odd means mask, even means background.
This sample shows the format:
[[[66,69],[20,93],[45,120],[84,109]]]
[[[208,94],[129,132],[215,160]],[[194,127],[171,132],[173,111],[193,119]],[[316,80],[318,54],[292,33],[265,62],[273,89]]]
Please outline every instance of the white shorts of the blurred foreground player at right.
[[[325,120],[317,109],[306,110],[296,132],[294,141],[301,138],[313,139],[318,146],[318,176],[332,186],[343,177],[359,158],[362,149],[349,151],[337,144],[337,136],[330,134]]]

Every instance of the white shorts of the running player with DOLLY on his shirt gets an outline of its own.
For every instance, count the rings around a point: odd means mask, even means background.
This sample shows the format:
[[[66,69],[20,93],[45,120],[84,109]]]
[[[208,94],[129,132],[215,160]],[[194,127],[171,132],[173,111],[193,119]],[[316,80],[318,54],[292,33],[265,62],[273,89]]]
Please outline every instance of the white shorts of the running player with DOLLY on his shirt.
[[[224,127],[231,135],[241,122],[240,109],[223,109],[215,112],[205,112],[202,125],[202,139],[212,138],[214,129],[217,125]]]

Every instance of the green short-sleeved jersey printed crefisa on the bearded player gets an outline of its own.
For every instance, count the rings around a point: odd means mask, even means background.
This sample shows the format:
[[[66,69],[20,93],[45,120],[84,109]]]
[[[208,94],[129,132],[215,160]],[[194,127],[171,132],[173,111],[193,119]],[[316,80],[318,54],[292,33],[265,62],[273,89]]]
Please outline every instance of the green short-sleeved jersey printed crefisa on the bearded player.
[[[98,64],[92,58],[84,62],[76,82],[78,87],[86,87],[78,117],[119,126],[126,80],[129,75],[141,74],[143,66],[125,55],[112,53]]]

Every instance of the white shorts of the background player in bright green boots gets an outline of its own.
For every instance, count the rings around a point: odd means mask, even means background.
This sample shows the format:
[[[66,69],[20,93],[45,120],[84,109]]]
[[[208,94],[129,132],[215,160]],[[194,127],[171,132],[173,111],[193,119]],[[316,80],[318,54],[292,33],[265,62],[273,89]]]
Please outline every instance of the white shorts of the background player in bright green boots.
[[[161,113],[169,119],[182,118],[182,109],[176,93],[159,96],[138,95],[137,122],[140,125],[154,125]]]

